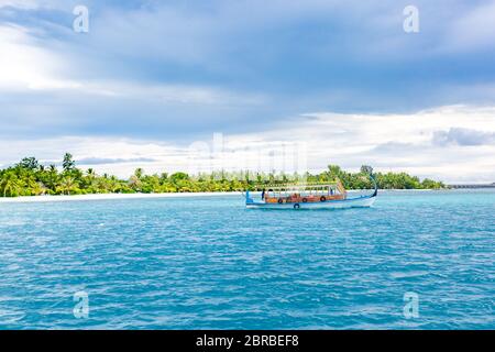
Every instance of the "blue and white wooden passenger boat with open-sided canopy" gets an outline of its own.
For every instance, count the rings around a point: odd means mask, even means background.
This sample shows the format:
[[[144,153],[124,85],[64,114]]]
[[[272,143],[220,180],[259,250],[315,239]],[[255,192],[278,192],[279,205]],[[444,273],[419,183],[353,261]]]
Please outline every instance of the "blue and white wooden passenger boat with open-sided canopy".
[[[371,207],[378,195],[376,180],[372,177],[374,191],[371,195],[348,197],[340,180],[327,184],[301,184],[270,187],[260,200],[245,191],[245,207],[249,209],[344,209]]]

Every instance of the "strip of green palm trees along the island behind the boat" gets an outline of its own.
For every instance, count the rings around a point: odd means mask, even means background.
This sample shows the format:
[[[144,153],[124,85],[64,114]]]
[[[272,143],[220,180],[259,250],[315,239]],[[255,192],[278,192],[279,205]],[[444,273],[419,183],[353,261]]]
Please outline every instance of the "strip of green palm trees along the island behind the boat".
[[[194,191],[231,191],[261,189],[264,185],[301,182],[330,182],[339,178],[348,189],[373,188],[367,177],[373,173],[370,166],[362,166],[359,173],[348,173],[337,165],[329,165],[326,172],[317,175],[274,175],[261,173],[199,174],[190,176],[185,173],[168,175],[145,175],[138,168],[129,179],[119,179],[107,174],[97,175],[92,168],[86,172],[76,167],[70,154],[64,155],[62,169],[55,165],[45,166],[35,157],[25,157],[19,164],[0,170],[0,197],[38,196],[38,195],[87,195],[109,193],[194,193]],[[378,187],[383,189],[436,189],[443,188],[440,182],[409,176],[406,173],[374,174]]]

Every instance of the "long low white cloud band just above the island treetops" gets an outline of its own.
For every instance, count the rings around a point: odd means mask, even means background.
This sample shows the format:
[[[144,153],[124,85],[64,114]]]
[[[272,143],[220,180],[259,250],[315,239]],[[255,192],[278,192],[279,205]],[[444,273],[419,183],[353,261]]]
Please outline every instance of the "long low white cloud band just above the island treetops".
[[[290,172],[290,161],[284,165],[286,161],[280,161],[280,156],[285,153],[290,158],[290,153],[299,153],[295,157],[302,160],[314,172],[324,169],[328,164],[349,169],[370,164],[382,172],[404,170],[448,183],[495,182],[494,141],[481,139],[472,145],[476,135],[495,134],[495,107],[457,106],[395,116],[327,112],[309,116],[311,118],[302,123],[290,120],[265,132],[224,135],[217,145],[208,136],[196,141],[195,148],[188,148],[187,143],[178,145],[110,138],[1,142],[0,155],[11,155],[14,160],[0,163],[12,163],[26,155],[56,161],[68,151],[76,160],[98,160],[87,167],[124,177],[136,167],[144,167],[148,173],[197,172],[208,170],[208,167]],[[470,143],[464,145],[436,143],[438,133],[449,135],[449,131],[476,132],[470,133]],[[201,146],[206,151],[200,152]],[[302,158],[301,153],[305,154]],[[111,162],[106,165],[101,160]]]

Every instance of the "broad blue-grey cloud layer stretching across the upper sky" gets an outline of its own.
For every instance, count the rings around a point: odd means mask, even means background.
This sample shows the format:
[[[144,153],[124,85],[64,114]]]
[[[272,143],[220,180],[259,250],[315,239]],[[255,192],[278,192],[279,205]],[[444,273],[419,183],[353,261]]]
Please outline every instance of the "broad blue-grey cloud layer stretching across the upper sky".
[[[418,0],[420,33],[406,34],[407,2],[392,0],[88,0],[85,35],[72,30],[74,3],[42,2],[46,7],[10,7],[0,13],[0,28],[25,30],[29,40],[20,44],[66,63],[55,78],[82,88],[8,87],[0,92],[0,119],[9,121],[0,130],[4,139],[111,135],[184,142],[218,131],[264,131],[308,111],[415,112],[495,98],[490,22],[470,20],[470,36],[459,43],[450,35],[452,25],[472,19],[473,11],[493,16],[492,8],[477,1]],[[43,73],[43,63],[37,65]],[[486,87],[473,89],[480,81]],[[134,88],[109,94],[108,82]],[[170,85],[184,89],[170,98],[153,88]],[[191,101],[185,90],[195,87],[205,91],[193,94]],[[252,96],[263,99],[239,98]]]

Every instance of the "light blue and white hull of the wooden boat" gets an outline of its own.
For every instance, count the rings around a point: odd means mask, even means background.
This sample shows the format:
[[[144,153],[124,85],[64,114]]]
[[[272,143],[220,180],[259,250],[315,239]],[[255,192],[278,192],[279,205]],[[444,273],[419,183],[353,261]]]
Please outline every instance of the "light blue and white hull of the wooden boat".
[[[266,204],[264,201],[246,202],[249,209],[346,209],[346,208],[369,208],[375,202],[375,196],[363,196],[343,200],[327,200],[319,202],[297,202],[297,204]]]

